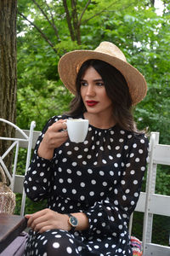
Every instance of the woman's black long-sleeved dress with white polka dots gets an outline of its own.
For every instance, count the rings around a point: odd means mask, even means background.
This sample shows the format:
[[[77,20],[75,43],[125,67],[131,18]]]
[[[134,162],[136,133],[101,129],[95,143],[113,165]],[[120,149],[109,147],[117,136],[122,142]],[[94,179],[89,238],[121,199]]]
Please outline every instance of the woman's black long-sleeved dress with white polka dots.
[[[40,158],[37,148],[48,126],[66,118],[50,119],[38,138],[26,173],[26,195],[33,201],[48,198],[48,208],[59,213],[86,213],[89,229],[31,230],[26,255],[130,256],[127,224],[139,199],[148,139],[118,125],[89,125],[83,143],[68,139],[54,150],[53,160]]]

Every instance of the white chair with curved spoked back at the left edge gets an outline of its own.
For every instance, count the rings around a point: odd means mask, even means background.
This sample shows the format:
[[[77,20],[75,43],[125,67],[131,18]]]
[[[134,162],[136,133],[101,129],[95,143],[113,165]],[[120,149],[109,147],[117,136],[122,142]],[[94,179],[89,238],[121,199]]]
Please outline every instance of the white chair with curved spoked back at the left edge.
[[[18,161],[18,156],[20,153],[19,149],[27,148],[26,168],[25,168],[25,173],[26,173],[28,166],[30,164],[33,131],[34,131],[34,128],[36,127],[36,123],[35,123],[35,121],[31,122],[30,130],[26,134],[25,131],[21,130],[17,125],[14,125],[13,123],[9,122],[8,120],[0,119],[0,125],[2,125],[2,122],[6,123],[7,125],[13,126],[16,131],[15,137],[0,137],[0,140],[11,142],[8,149],[3,153],[3,155],[0,156],[0,164],[1,164],[1,166],[3,166],[3,170],[9,179],[10,189],[12,189],[14,191],[14,193],[17,193],[17,192],[22,193],[20,215],[24,216],[26,194],[23,189],[23,180],[24,180],[23,176],[16,175],[17,161]],[[10,151],[13,149],[14,149],[14,162],[13,162],[13,170],[12,170],[12,174],[11,174],[8,171],[7,166],[5,165],[4,159],[10,153]]]

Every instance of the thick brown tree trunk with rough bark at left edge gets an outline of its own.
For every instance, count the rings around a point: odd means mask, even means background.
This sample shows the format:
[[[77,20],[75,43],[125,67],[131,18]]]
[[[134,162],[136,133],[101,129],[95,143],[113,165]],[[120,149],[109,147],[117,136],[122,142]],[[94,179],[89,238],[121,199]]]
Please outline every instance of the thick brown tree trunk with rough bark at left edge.
[[[17,0],[0,0],[0,118],[15,122],[16,104],[16,14]],[[0,137],[13,130],[0,122]],[[8,147],[0,141],[0,155]],[[10,166],[10,159],[6,160]]]

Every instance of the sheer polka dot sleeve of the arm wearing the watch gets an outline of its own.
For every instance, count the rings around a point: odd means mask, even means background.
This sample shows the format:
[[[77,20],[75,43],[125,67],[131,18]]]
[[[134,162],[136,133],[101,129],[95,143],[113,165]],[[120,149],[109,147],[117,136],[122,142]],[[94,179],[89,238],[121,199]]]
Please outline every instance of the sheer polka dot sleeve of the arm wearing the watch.
[[[129,216],[139,199],[148,154],[148,139],[144,135],[136,135],[128,148],[123,157],[122,176],[113,185],[110,196],[95,202],[85,212],[89,219],[89,232],[92,234],[117,236],[122,230],[127,230],[124,227],[127,227]]]

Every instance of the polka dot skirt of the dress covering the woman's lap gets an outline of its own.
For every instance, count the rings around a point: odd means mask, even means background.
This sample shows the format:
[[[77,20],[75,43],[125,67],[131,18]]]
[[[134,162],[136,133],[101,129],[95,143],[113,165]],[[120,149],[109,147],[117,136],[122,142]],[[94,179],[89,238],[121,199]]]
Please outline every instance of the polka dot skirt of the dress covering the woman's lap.
[[[117,247],[116,241],[111,242],[111,237],[103,241],[94,237],[89,240],[77,231],[71,234],[66,230],[48,230],[42,234],[30,230],[29,235],[25,256],[132,255],[132,249]]]

